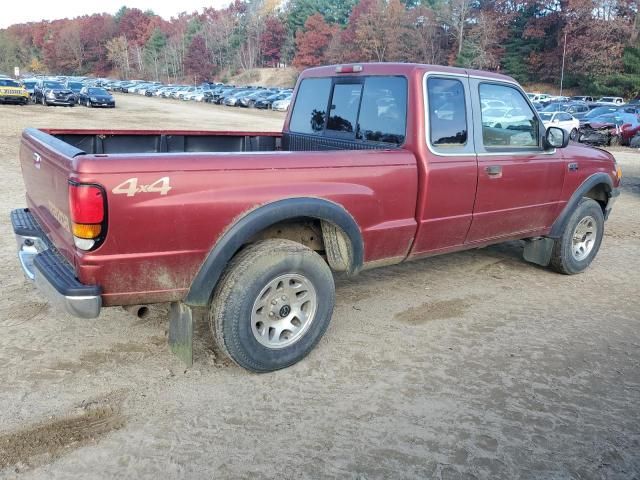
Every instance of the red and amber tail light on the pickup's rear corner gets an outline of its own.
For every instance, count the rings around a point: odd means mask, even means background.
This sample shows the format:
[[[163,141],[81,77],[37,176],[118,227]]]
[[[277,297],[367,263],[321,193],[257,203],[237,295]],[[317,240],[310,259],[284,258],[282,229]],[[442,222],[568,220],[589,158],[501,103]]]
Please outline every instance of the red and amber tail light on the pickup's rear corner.
[[[104,237],[106,199],[102,187],[69,182],[69,213],[73,241],[81,250],[91,250]]]

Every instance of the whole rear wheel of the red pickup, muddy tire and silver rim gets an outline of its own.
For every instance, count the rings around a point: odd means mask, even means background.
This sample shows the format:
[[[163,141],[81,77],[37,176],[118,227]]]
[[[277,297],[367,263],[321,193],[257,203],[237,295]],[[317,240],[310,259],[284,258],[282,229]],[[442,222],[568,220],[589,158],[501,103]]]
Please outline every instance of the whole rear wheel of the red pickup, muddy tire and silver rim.
[[[296,297],[301,300],[292,302]],[[271,372],[313,350],[334,303],[333,275],[320,255],[290,240],[264,240],[231,260],[214,291],[209,320],[233,362]]]

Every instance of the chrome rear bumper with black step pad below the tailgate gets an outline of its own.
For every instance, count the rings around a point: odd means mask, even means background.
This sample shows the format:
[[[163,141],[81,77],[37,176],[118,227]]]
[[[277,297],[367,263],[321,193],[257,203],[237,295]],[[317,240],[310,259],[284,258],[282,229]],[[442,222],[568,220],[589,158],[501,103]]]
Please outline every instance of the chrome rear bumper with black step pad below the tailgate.
[[[12,211],[11,224],[25,276],[57,308],[74,317],[96,318],[102,308],[100,286],[78,281],[28,209]]]

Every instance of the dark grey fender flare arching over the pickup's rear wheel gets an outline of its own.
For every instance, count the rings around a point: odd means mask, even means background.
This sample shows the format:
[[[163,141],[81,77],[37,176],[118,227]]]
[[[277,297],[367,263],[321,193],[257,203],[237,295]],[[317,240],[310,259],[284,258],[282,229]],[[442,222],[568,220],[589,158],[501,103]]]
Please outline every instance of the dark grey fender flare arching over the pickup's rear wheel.
[[[193,279],[184,303],[192,307],[207,306],[224,269],[243,244],[271,225],[299,217],[317,218],[340,227],[351,242],[352,258],[348,273],[356,273],[362,268],[362,235],[358,224],[344,207],[321,198],[277,200],[249,211],[222,234]]]

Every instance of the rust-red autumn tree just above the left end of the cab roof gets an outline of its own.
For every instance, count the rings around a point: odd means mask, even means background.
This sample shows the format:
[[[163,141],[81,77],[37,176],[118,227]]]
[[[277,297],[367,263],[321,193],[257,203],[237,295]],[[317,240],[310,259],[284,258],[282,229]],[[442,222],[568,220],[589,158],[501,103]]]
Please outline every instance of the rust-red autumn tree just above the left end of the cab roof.
[[[296,56],[293,65],[307,68],[324,63],[329,43],[336,27],[328,25],[319,13],[311,15],[304,24],[304,31],[296,33]]]

